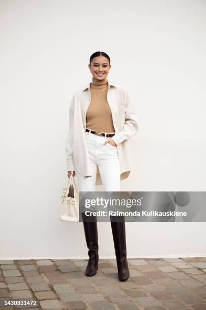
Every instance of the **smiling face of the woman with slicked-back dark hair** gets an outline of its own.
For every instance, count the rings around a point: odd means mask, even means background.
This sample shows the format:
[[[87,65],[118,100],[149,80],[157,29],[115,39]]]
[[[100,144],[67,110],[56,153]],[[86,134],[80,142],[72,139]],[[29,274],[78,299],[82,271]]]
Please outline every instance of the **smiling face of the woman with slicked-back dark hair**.
[[[109,65],[108,58],[104,56],[94,57],[91,61],[91,65],[89,64],[92,76],[97,80],[106,79],[110,67],[111,65]]]

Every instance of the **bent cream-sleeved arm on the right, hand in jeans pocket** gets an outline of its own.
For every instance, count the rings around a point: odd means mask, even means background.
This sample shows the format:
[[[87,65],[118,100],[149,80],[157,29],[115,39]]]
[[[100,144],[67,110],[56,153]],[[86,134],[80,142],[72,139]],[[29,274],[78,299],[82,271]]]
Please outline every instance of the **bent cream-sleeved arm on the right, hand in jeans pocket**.
[[[125,109],[125,124],[120,132],[115,133],[111,138],[116,145],[125,140],[132,138],[138,131],[137,125],[137,111],[133,103],[133,97],[130,96],[126,89],[126,109]]]

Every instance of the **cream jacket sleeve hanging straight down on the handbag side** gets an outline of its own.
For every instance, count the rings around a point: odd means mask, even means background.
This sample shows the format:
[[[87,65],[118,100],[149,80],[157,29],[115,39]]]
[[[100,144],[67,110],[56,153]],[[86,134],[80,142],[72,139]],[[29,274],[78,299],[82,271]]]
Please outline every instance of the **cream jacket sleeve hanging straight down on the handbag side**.
[[[73,119],[74,119],[74,95],[69,106],[68,134],[65,143],[67,171],[75,171],[73,163]]]

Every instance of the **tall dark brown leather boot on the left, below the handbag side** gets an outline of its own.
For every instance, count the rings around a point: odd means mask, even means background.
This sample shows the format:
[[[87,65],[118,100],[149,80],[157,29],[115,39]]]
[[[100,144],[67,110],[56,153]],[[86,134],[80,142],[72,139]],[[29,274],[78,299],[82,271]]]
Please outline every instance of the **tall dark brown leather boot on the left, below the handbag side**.
[[[87,268],[85,270],[85,275],[88,277],[94,276],[98,270],[99,261],[99,246],[98,246],[98,232],[97,232],[97,217],[92,215],[90,219],[95,221],[88,221],[87,216],[82,213],[83,224],[85,229],[85,238],[87,242],[87,247],[89,249],[89,261]]]

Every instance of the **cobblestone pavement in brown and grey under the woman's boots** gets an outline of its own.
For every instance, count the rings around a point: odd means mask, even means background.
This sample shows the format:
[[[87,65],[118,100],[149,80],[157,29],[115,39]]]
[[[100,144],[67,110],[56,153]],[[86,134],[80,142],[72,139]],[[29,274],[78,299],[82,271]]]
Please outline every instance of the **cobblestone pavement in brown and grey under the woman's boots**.
[[[93,277],[84,275],[87,260],[0,260],[0,310],[206,309],[205,257],[128,261],[130,279],[120,282],[114,259],[101,259]]]

